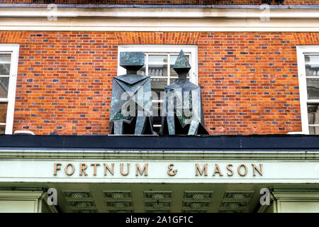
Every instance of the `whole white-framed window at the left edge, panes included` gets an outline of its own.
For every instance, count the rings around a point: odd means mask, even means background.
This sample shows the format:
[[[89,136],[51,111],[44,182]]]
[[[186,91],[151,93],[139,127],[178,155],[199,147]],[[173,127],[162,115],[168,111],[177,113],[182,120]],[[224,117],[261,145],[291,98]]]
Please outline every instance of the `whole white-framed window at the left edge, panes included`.
[[[0,44],[0,134],[12,134],[18,44]]]

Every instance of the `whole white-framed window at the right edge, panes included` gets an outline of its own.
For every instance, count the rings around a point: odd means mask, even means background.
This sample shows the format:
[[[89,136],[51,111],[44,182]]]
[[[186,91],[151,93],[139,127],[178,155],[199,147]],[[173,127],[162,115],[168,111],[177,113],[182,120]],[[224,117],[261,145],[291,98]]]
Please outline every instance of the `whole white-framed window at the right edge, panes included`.
[[[303,133],[319,135],[319,46],[297,46]]]

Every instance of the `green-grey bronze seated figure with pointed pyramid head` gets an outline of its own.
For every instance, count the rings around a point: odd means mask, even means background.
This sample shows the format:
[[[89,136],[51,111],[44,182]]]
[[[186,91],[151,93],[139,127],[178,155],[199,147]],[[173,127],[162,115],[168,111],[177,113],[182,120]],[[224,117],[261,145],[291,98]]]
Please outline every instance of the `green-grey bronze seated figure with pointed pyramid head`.
[[[179,75],[176,82],[164,89],[162,135],[208,135],[201,105],[201,87],[189,82],[191,65],[183,50],[173,66]]]

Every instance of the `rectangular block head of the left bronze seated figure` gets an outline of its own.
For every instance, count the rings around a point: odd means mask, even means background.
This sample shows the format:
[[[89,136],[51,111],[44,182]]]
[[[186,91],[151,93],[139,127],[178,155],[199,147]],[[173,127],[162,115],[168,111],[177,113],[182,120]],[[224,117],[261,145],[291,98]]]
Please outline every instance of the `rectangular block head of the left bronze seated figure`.
[[[120,52],[120,65],[127,70],[126,74],[137,74],[144,64],[144,52]]]

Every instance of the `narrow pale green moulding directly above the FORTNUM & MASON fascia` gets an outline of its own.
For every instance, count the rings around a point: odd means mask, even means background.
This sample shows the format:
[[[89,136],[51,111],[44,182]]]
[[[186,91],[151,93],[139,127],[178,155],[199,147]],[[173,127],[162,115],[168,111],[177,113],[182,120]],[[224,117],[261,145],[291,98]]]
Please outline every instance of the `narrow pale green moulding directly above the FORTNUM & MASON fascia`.
[[[201,151],[201,150],[104,150],[104,149],[35,149],[1,148],[0,160],[302,160],[318,161],[311,151]]]

